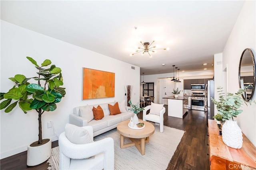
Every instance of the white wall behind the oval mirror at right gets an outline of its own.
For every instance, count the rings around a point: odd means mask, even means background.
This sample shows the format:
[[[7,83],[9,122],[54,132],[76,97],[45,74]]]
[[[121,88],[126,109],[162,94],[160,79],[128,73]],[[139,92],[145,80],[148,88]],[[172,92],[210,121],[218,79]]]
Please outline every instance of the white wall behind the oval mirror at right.
[[[228,64],[228,92],[234,93],[239,89],[238,66],[244,49],[252,49],[254,57],[256,57],[255,3],[255,1],[245,1],[223,51],[223,66]],[[256,100],[255,92],[252,100]],[[248,104],[248,106],[243,106],[242,109],[243,112],[238,115],[236,120],[243,133],[256,146],[256,105],[250,106]]]

